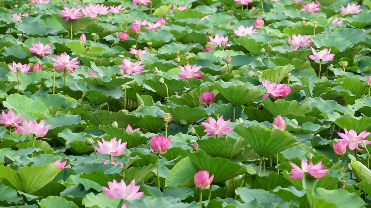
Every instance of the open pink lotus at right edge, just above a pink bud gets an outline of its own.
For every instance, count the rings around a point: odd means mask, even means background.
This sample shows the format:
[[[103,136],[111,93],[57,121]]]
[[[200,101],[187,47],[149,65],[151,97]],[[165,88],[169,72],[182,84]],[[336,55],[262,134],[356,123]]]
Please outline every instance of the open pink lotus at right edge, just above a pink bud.
[[[342,138],[341,140],[338,140],[338,142],[343,141],[347,143],[349,150],[357,149],[359,151],[362,151],[362,149],[358,147],[359,143],[361,142],[365,142],[366,144],[371,144],[371,141],[368,141],[368,140],[362,141],[364,138],[366,138],[370,134],[370,132],[366,130],[359,133],[359,135],[357,135],[357,132],[352,129],[348,132],[348,130],[344,128],[344,132],[345,134],[338,132],[338,135]]]

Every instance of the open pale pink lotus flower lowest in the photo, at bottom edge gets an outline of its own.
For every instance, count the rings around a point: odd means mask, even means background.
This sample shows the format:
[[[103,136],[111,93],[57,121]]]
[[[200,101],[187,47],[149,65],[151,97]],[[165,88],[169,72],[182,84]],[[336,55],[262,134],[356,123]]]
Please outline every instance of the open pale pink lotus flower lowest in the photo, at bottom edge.
[[[140,198],[144,192],[138,192],[140,186],[135,186],[135,180],[131,181],[131,184],[126,186],[125,181],[121,179],[121,182],[114,180],[113,182],[108,181],[108,187],[102,187],[104,194],[110,199],[125,199],[132,201]]]

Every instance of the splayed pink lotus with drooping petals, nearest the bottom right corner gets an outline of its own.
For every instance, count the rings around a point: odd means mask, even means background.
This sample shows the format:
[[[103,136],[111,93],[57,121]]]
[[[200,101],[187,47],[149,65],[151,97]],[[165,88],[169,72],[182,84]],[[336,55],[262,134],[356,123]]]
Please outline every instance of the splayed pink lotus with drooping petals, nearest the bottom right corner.
[[[306,163],[304,158],[302,158],[302,168],[299,168],[293,163],[289,163],[294,169],[290,171],[290,174],[293,174],[289,178],[298,179],[300,178],[303,181],[304,172],[309,172],[315,178],[322,178],[330,170],[322,170],[325,165],[322,165],[322,161],[319,161],[316,165],[313,165],[312,161],[309,162],[309,165]]]

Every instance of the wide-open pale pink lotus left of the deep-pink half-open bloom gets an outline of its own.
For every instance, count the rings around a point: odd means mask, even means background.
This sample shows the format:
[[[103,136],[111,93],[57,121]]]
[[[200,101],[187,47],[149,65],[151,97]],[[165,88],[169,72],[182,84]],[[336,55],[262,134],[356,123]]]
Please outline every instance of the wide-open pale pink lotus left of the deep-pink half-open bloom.
[[[104,155],[111,155],[111,156],[120,156],[124,154],[126,149],[126,144],[128,142],[124,142],[121,144],[121,139],[117,141],[116,137],[112,138],[111,141],[105,141],[102,139],[102,142],[99,140],[97,141],[99,147],[94,147],[96,151]]]

